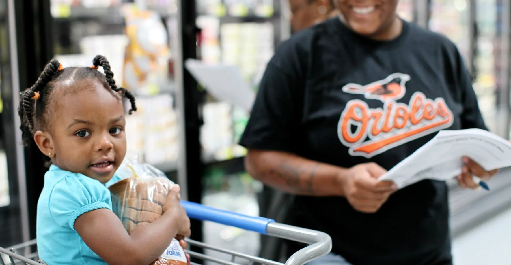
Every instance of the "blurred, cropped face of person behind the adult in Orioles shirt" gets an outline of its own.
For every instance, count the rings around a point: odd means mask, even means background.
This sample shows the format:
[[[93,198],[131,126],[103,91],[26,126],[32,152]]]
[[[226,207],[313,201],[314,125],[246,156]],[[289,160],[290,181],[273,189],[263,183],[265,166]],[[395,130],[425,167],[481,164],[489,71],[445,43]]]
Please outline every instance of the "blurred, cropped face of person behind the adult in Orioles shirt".
[[[336,15],[333,0],[289,0],[289,9],[295,32]]]

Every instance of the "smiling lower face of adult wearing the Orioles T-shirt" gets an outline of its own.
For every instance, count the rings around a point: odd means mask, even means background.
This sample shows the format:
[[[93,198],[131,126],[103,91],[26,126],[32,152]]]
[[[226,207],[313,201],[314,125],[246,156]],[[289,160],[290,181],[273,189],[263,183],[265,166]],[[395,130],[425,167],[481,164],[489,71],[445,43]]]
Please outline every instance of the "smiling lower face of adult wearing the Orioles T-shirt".
[[[384,35],[398,18],[398,0],[335,0],[335,3],[345,24],[368,37]]]

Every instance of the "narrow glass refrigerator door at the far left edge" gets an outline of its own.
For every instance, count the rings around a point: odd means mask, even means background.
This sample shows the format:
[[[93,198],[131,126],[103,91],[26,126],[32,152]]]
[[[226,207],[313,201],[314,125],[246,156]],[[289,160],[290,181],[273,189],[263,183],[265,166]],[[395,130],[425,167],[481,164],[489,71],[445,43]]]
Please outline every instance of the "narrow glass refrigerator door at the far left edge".
[[[0,247],[28,241],[27,194],[17,103],[19,75],[14,1],[0,0]],[[7,261],[6,256],[0,255]]]

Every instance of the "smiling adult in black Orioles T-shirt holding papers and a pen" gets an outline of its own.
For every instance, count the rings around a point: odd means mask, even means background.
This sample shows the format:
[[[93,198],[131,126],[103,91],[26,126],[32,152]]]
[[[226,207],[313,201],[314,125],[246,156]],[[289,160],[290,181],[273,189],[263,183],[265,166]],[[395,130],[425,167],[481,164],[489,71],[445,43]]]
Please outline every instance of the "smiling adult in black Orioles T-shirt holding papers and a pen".
[[[246,169],[297,195],[288,223],[331,235],[311,264],[452,264],[446,183],[377,178],[439,130],[486,129],[469,72],[451,41],[396,15],[398,0],[335,4],[339,17],[269,62],[240,143]],[[496,173],[463,163],[464,188]]]

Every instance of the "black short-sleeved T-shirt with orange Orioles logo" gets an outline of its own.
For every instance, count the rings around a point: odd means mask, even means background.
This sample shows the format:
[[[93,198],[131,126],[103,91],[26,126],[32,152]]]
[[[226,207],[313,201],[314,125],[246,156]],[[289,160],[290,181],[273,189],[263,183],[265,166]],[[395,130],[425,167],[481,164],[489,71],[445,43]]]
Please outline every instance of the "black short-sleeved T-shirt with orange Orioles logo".
[[[373,41],[332,18],[278,47],[240,144],[389,170],[439,130],[465,128],[486,126],[451,41],[408,22],[398,38]],[[355,265],[450,264],[445,182],[406,187],[375,214],[308,196],[289,212],[290,224],[327,232],[332,251]]]

